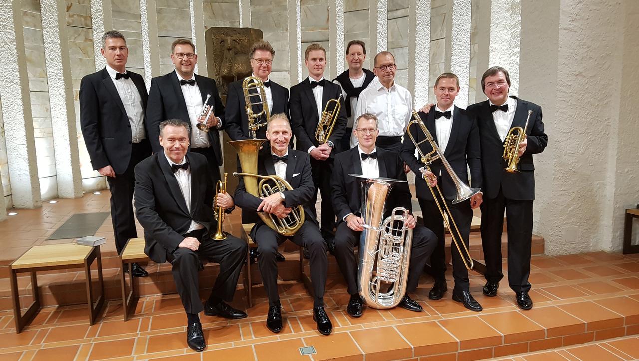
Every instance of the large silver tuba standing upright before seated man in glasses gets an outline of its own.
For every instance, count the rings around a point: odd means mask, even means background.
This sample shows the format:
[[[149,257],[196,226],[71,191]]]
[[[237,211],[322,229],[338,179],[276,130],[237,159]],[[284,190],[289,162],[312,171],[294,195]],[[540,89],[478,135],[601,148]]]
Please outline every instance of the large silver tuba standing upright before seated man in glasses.
[[[383,214],[392,183],[406,180],[350,175],[366,179],[362,182],[359,293],[370,307],[392,308],[406,294],[413,230],[406,226],[407,209],[397,207],[386,219]]]

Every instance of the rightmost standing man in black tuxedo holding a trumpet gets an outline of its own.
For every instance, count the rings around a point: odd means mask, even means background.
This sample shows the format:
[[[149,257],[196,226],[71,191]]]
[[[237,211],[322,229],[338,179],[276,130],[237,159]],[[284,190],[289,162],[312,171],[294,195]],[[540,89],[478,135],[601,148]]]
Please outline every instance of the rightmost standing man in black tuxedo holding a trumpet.
[[[511,79],[499,66],[486,70],[481,80],[488,100],[473,104],[468,111],[477,116],[484,170],[484,202],[481,205],[481,238],[486,260],[484,294],[497,295],[502,273],[502,230],[504,209],[508,232],[508,283],[516,293],[521,309],[532,308],[528,295],[530,283],[530,247],[532,239],[532,202],[535,199],[535,166],[532,155],[544,151],[548,136],[541,121],[541,107],[530,101],[508,96]],[[525,127],[532,110],[526,138],[519,144],[519,172],[504,170],[504,140],[514,126]]]

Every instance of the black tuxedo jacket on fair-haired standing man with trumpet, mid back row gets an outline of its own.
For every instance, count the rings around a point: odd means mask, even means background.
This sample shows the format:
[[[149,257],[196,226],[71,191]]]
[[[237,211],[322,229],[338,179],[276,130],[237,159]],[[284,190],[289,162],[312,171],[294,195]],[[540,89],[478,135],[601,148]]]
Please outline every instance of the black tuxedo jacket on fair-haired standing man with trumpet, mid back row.
[[[341,140],[346,132],[348,118],[346,117],[346,103],[341,96],[342,88],[325,80],[321,110],[324,110],[330,99],[340,99],[341,103],[341,110],[337,115],[333,132],[328,138],[335,145],[335,149],[330,153],[331,158],[345,150],[341,149]],[[291,112],[291,127],[296,138],[295,149],[305,152],[311,145],[317,147],[319,144],[315,140],[315,129],[318,126],[319,116],[309,78],[305,78],[300,84],[291,87],[291,99],[289,99],[288,107]]]

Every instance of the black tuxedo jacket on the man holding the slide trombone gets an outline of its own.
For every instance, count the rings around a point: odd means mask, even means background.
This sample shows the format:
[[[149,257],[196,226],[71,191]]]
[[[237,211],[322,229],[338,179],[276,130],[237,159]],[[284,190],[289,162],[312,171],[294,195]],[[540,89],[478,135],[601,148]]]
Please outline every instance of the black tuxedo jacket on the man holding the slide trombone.
[[[428,114],[419,112],[418,114],[422,122],[426,124],[426,128],[435,139],[435,142],[438,142],[437,131],[435,129],[435,111],[433,110]],[[426,139],[426,135],[424,135],[417,124],[412,124],[410,131],[417,142]],[[422,149],[424,154],[433,151],[433,147],[431,147],[429,142],[420,144],[420,149]],[[428,189],[426,180],[424,180],[422,173],[419,171],[419,168],[424,166],[424,163],[415,157],[415,144],[413,144],[408,135],[404,136],[401,154],[404,161],[410,166],[413,172],[415,172],[415,191],[417,198],[433,200],[433,195]],[[474,115],[468,112],[468,110],[454,107],[450,137],[443,156],[464,184],[469,185],[468,168],[470,168],[472,188],[483,187],[479,129],[477,128],[477,121]],[[435,160],[431,165],[431,170],[437,175],[438,184],[443,196],[447,200],[453,200],[457,194],[456,187],[449,173],[444,168],[442,161],[439,159]],[[440,172],[442,174],[441,176]]]

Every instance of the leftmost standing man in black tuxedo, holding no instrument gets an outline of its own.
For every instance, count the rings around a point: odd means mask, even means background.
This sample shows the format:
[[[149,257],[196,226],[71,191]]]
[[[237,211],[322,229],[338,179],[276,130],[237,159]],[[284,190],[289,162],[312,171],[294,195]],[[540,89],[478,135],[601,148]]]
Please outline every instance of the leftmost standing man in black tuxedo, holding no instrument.
[[[129,239],[137,237],[131,202],[134,167],[151,154],[144,128],[147,94],[142,76],[127,71],[127,41],[121,33],[105,33],[100,52],[107,66],[80,84],[80,123],[93,169],[109,182],[111,221],[120,253]],[[148,276],[137,263],[131,272],[135,277]]]

